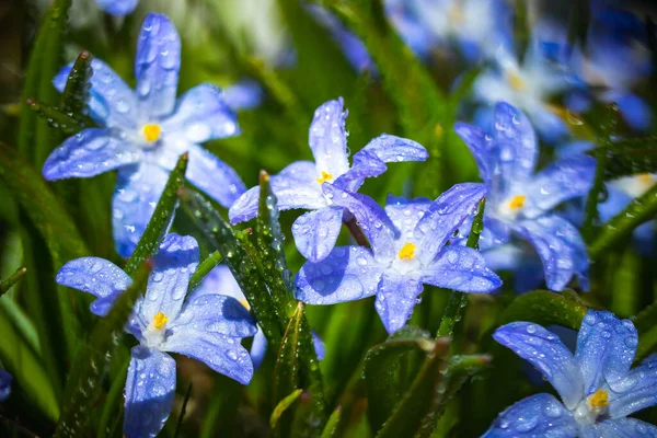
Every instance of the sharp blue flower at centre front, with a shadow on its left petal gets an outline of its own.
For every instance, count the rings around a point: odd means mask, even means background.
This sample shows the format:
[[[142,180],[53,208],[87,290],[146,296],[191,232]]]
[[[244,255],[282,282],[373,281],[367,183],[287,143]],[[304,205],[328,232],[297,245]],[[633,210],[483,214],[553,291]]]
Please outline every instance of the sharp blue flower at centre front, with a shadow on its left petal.
[[[488,292],[502,281],[470,247],[445,246],[485,195],[482,184],[460,184],[436,201],[390,197],[385,210],[371,198],[324,184],[334,206],[354,214],[371,249],[335,247],[321,262],[307,262],[296,277],[297,299],[335,304],[377,296],[376,308],[389,333],[413,312],[423,284]]]

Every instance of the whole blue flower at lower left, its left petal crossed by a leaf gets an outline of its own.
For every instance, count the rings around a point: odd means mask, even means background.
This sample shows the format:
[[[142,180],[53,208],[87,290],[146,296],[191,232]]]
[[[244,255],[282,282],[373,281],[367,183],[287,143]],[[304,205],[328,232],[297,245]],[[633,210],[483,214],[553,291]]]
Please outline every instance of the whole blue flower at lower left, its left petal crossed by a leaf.
[[[249,353],[240,345],[242,337],[257,331],[249,311],[221,295],[185,300],[198,257],[194,238],[168,234],[153,258],[146,293],[135,303],[126,326],[139,341],[131,349],[125,389],[126,437],[154,437],[171,413],[175,360],[165,351],[200,360],[242,384],[253,377]],[[57,283],[97,297],[91,310],[102,316],[130,277],[106,260],[83,257],[67,263]]]

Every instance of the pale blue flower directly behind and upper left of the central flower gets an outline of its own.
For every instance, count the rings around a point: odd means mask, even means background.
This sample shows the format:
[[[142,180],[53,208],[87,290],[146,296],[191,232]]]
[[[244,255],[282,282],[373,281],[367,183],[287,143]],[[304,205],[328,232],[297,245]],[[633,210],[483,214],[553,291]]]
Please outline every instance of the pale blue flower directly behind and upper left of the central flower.
[[[335,205],[327,191],[335,186],[357,192],[367,177],[385,172],[385,163],[426,160],[427,151],[418,143],[383,134],[354,155],[349,166],[343,100],[320,106],[310,125],[309,142],[315,162],[296,161],[269,180],[278,198],[278,208],[306,208],[313,211],[300,216],[292,226],[295,243],[308,260],[324,258],[337,240],[348,208]],[[230,208],[231,222],[238,223],[257,216],[260,187],[253,187]]]

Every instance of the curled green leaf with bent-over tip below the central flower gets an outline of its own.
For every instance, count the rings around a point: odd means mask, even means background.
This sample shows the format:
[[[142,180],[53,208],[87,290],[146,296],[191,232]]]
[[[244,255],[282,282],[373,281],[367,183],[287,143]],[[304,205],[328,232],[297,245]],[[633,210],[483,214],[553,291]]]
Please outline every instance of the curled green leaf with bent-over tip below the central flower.
[[[397,378],[401,358],[411,351],[430,354],[434,348],[435,341],[427,332],[407,325],[367,351],[365,383],[372,429],[381,428],[405,392]]]

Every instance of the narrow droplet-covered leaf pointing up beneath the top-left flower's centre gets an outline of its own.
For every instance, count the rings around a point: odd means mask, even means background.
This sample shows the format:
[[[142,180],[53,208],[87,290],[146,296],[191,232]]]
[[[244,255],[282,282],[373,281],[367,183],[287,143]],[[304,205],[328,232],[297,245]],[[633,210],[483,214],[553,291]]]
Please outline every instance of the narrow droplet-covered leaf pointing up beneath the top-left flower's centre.
[[[139,239],[139,243],[132,255],[126,262],[124,270],[128,275],[135,274],[137,267],[159,250],[160,242],[162,242],[173,220],[173,215],[178,204],[178,192],[185,185],[185,171],[187,170],[188,161],[189,155],[186,152],[183,153],[178,158],[173,172],[169,175],[169,181],[166,181],[164,192],[162,192],[162,196],[155,206],[153,216]]]

